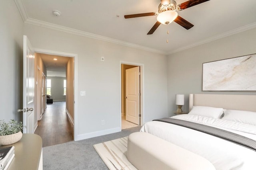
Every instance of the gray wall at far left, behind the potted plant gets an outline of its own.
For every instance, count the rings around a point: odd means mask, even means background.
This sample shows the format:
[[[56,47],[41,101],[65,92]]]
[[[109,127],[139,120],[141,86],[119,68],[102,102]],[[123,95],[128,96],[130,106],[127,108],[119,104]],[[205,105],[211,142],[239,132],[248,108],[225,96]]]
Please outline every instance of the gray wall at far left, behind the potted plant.
[[[13,0],[0,1],[0,119],[22,121],[23,20]]]

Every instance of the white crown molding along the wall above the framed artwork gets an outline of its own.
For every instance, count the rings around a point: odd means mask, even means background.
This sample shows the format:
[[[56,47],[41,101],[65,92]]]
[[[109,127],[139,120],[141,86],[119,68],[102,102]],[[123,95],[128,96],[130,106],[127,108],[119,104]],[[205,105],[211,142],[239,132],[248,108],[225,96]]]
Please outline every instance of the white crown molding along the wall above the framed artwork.
[[[213,36],[213,37],[210,37],[210,38],[207,38],[207,39],[204,39],[203,41],[198,41],[196,43],[193,43],[191,45],[188,45],[188,46],[185,46],[185,47],[181,47],[179,49],[176,49],[174,51],[169,51],[168,52],[168,55],[170,54],[173,54],[173,53],[177,53],[179,51],[183,51],[183,50],[186,50],[186,49],[190,49],[192,47],[196,47],[198,45],[202,45],[202,44],[205,44],[205,43],[209,43],[211,41],[214,41],[214,40],[217,40],[217,39],[221,39],[221,38],[224,38],[224,37],[228,37],[230,35],[233,35],[233,34],[236,34],[236,33],[240,33],[242,31],[246,31],[248,29],[252,29],[252,28],[255,28],[256,27],[256,22],[254,23],[251,23],[251,24],[248,24],[248,25],[245,25],[243,27],[239,27],[239,28],[236,28],[236,29],[233,29],[231,31],[227,31],[225,33],[221,33],[221,34],[218,34],[216,36]]]

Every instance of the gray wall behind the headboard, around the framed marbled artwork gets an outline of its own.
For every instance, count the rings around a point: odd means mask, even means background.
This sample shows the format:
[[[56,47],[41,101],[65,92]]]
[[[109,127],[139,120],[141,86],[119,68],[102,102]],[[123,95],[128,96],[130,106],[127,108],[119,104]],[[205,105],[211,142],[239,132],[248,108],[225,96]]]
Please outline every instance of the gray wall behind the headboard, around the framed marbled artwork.
[[[256,28],[168,56],[168,115],[176,110],[175,94],[256,94],[256,92],[202,92],[202,63],[256,53]]]

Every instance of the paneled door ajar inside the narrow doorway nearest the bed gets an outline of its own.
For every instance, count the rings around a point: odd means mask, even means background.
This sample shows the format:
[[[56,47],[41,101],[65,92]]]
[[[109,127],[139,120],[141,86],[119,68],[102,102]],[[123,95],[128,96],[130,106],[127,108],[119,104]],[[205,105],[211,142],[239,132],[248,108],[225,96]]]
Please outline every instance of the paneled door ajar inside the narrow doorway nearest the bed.
[[[125,71],[126,120],[140,125],[140,67]]]

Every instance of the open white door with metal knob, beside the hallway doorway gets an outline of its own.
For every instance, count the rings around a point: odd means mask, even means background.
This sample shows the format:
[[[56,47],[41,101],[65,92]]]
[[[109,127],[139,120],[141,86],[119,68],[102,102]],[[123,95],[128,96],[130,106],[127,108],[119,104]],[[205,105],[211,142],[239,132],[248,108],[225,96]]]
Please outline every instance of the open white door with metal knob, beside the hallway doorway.
[[[23,36],[23,133],[34,133],[34,51]]]

